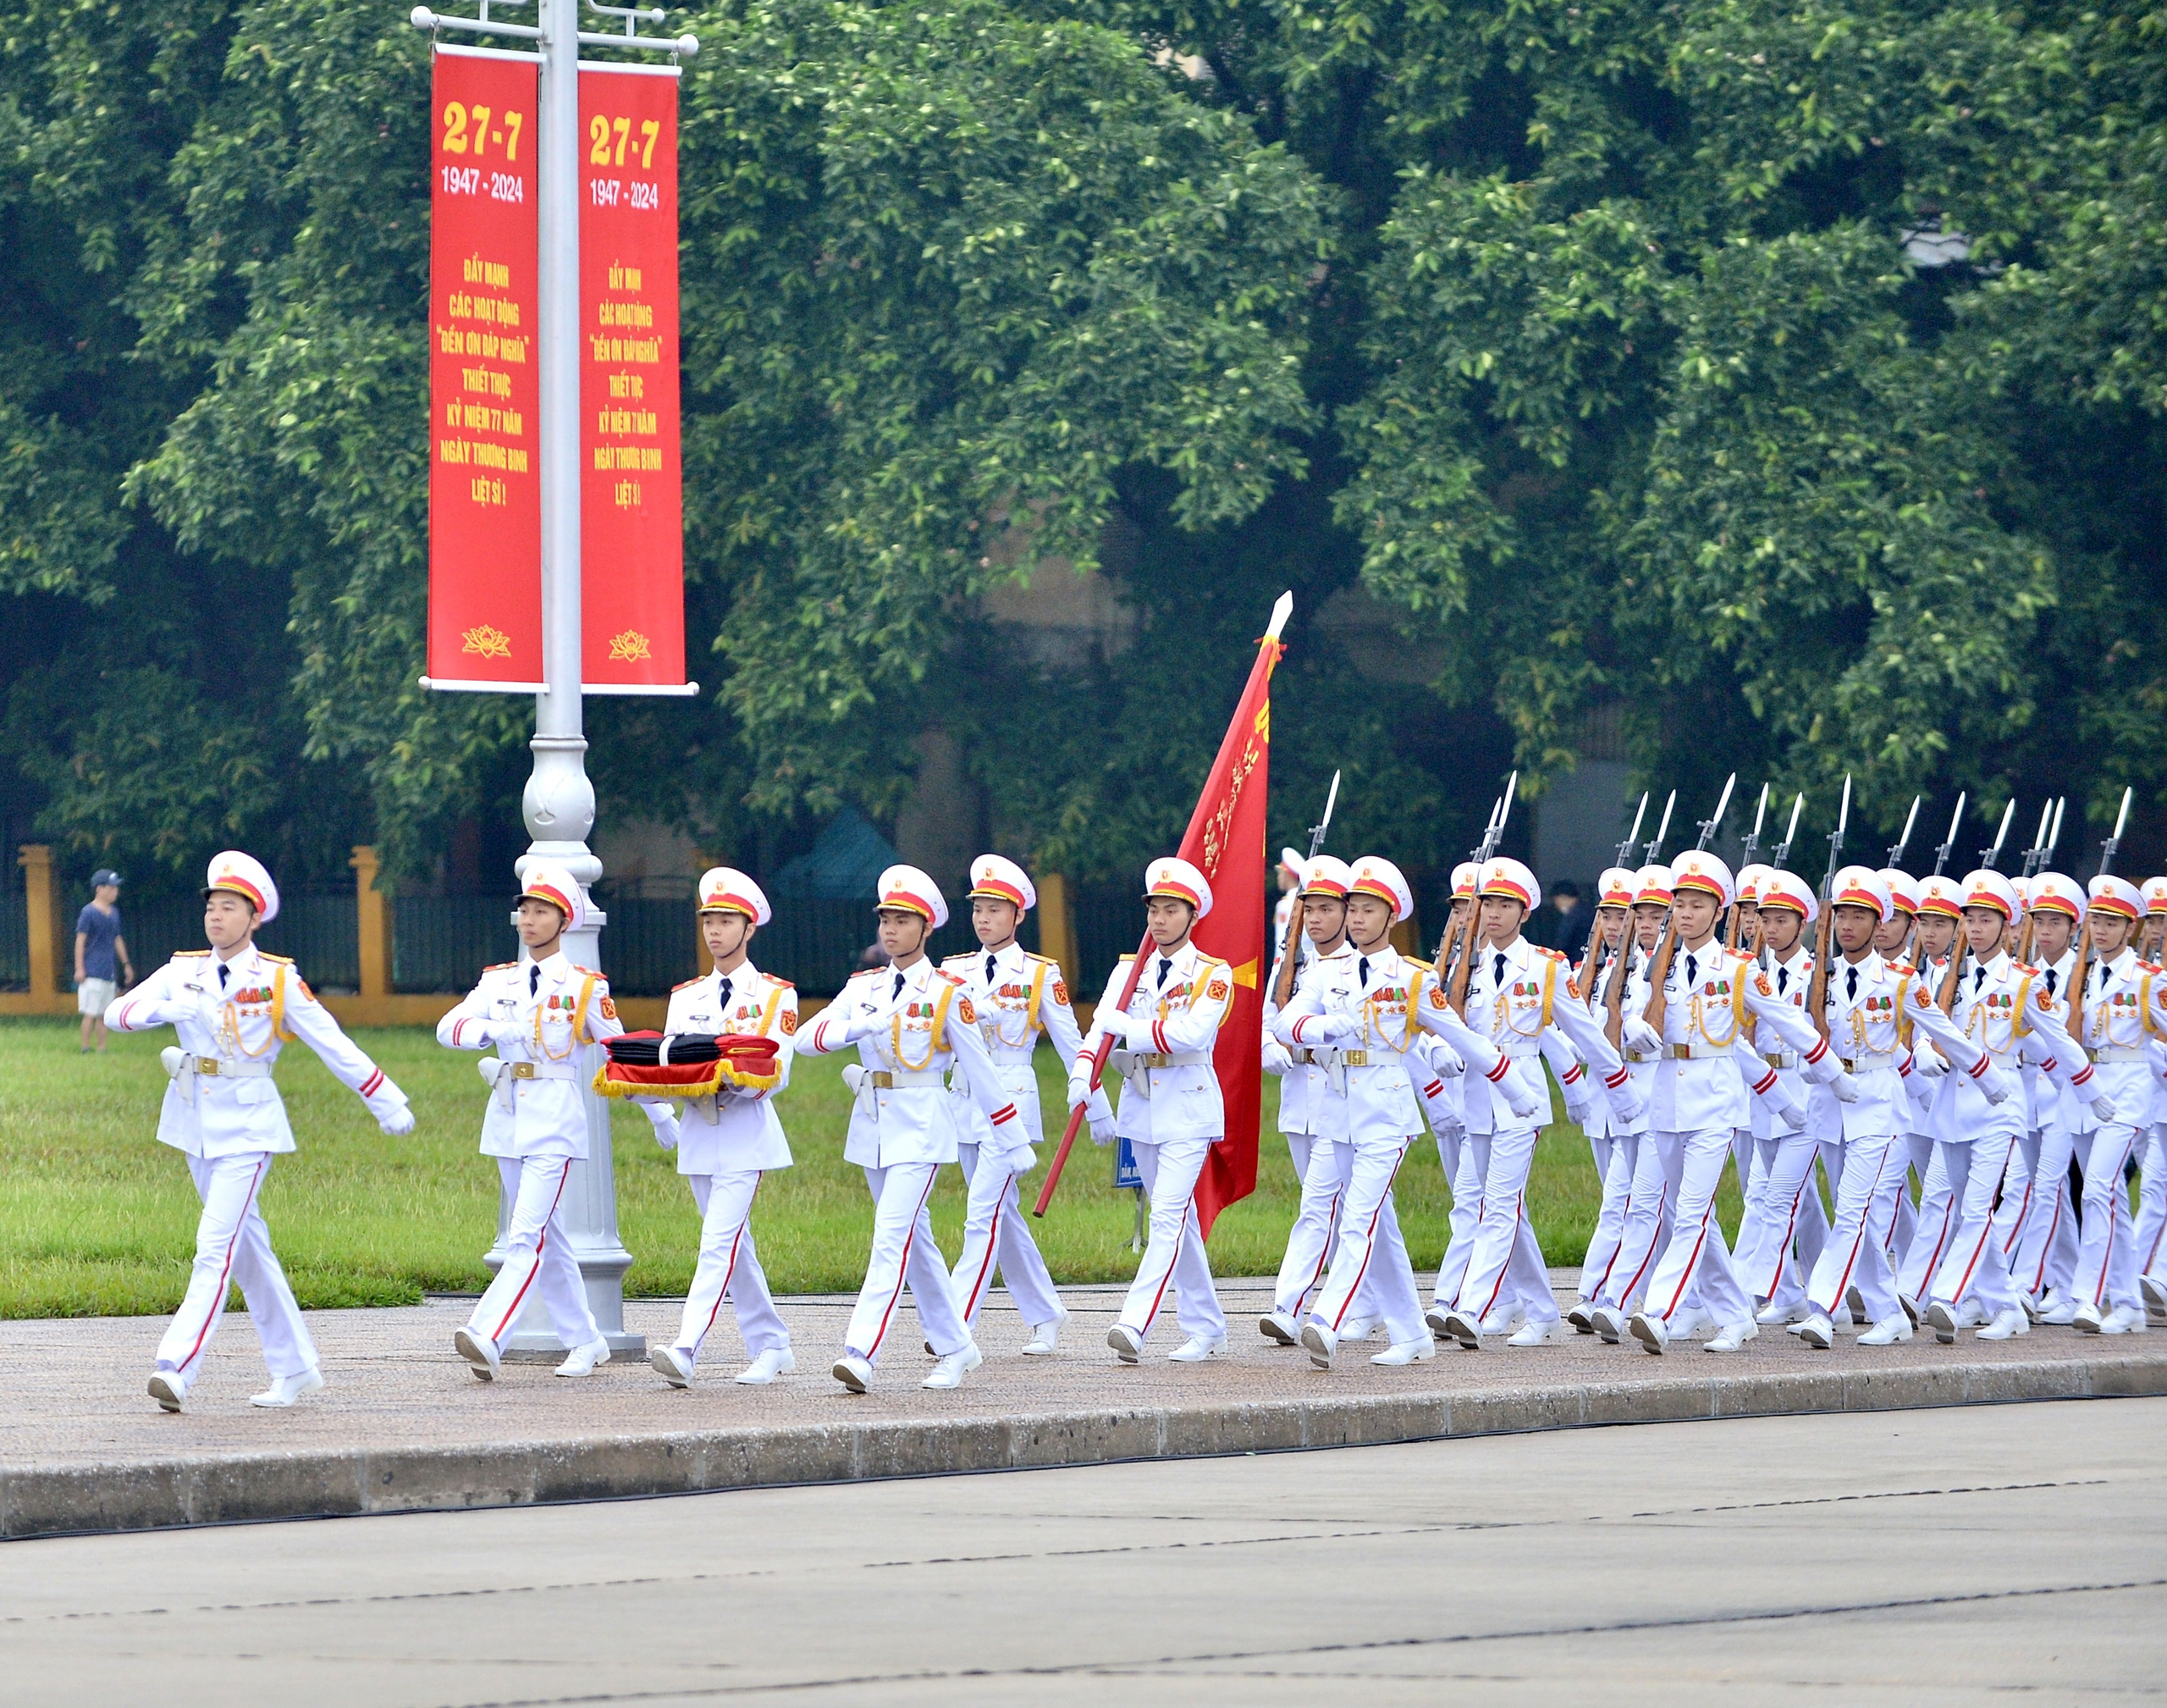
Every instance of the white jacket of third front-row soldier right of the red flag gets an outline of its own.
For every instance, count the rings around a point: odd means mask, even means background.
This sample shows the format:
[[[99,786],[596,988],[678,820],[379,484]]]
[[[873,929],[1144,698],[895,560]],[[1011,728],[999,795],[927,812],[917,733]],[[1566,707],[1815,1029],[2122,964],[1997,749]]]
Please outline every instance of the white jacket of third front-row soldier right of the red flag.
[[[1809,1084],[1838,1073],[1805,1010],[1777,995],[1773,973],[1721,939],[1699,949],[1677,943],[1662,993],[1662,1056],[1649,1110],[1656,1131],[1749,1127],[1749,1088],[1775,1090],[1764,1051],[1796,1053]]]

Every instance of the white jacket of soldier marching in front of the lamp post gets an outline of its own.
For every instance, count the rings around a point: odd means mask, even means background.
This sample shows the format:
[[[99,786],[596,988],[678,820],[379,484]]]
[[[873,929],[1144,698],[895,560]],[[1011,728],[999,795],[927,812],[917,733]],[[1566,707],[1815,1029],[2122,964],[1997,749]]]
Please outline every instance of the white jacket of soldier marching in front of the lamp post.
[[[485,967],[466,999],[436,1023],[446,1049],[496,1045],[481,1155],[585,1157],[596,1045],[622,1032],[609,980],[574,967],[563,949],[540,962]]]

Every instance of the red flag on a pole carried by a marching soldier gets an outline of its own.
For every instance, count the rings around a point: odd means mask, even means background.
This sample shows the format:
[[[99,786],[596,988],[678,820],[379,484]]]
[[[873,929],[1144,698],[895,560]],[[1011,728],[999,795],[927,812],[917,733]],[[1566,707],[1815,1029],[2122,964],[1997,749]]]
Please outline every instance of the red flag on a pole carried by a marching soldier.
[[[1257,644],[1257,663],[1227,724],[1211,776],[1196,800],[1181,858],[1211,884],[1211,913],[1196,921],[1196,947],[1233,969],[1233,1006],[1211,1051],[1227,1103],[1227,1142],[1214,1144],[1196,1181],[1196,1222],[1209,1238],[1218,1214],[1257,1190],[1257,1127],[1263,1118],[1263,926],[1266,795],[1272,759],[1272,668],[1285,646],[1279,631],[1294,607],[1283,596],[1272,629]]]

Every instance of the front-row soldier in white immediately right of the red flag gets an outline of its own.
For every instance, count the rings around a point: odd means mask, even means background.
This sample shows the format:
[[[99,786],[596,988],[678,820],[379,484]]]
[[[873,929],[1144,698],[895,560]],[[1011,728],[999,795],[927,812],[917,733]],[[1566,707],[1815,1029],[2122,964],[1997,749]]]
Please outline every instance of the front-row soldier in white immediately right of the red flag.
[[[1424,986],[1437,978],[1426,962],[1391,947],[1393,919],[1413,910],[1400,867],[1376,854],[1354,861],[1346,897],[1354,954],[1318,962],[1274,1025],[1289,1049],[1333,1053],[1331,1095],[1344,1105],[1335,1125],[1344,1123],[1346,1138],[1320,1142],[1302,1181],[1305,1203],[1326,1186],[1339,1203],[1331,1279],[1302,1324],[1302,1346],[1320,1370],[1331,1370],[1339,1329],[1363,1290],[1391,1335],[1391,1346],[1372,1363],[1402,1366],[1437,1355],[1391,1201],[1391,1183],[1422,1121],[1417,1086],[1428,1069],[1411,1056],[1411,1045],[1422,1036]]]

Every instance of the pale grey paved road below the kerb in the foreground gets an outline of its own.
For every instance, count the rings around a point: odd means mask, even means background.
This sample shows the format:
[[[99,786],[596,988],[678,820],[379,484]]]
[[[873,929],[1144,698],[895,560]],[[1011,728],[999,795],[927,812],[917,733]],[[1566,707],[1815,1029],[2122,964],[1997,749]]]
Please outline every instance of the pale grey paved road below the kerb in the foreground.
[[[2167,1400],[7,1543],[0,1678],[11,1708],[2147,1697]]]

